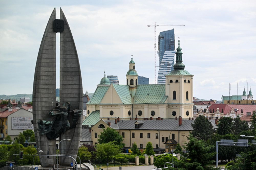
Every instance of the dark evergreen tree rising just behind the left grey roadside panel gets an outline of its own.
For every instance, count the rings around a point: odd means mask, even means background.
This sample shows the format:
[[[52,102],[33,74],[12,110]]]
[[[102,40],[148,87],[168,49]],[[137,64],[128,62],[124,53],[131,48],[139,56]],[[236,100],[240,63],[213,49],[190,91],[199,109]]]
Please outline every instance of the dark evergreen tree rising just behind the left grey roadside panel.
[[[218,121],[217,133],[219,135],[226,135],[232,132],[233,119],[230,117],[223,117]]]

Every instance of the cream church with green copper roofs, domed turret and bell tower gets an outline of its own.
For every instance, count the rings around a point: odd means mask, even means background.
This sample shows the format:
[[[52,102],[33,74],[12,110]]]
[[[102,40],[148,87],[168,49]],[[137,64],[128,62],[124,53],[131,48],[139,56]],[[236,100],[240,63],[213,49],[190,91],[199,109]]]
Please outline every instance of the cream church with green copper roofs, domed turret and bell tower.
[[[185,70],[182,51],[176,51],[176,63],[166,75],[165,84],[138,85],[138,73],[133,58],[129,62],[126,85],[112,84],[104,77],[86,104],[88,118],[83,125],[94,125],[100,119],[147,120],[148,118],[174,120],[193,117],[193,76]],[[96,121],[97,119],[97,121]],[[89,120],[89,119],[88,119]]]

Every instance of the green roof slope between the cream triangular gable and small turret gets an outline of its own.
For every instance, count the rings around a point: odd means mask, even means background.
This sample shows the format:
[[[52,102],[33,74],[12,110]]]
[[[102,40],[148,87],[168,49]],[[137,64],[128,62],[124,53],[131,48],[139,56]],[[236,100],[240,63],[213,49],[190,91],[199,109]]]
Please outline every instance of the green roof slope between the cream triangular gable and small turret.
[[[113,84],[118,96],[122,100],[123,104],[132,104],[131,95],[129,91],[129,85]]]

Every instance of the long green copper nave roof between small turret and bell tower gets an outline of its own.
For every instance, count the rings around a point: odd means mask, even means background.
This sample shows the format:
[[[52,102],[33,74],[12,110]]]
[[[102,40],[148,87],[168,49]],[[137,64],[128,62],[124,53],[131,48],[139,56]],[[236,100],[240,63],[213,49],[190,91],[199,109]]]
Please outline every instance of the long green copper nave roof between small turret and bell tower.
[[[145,84],[137,85],[133,104],[165,103],[168,96],[165,96],[165,84]]]

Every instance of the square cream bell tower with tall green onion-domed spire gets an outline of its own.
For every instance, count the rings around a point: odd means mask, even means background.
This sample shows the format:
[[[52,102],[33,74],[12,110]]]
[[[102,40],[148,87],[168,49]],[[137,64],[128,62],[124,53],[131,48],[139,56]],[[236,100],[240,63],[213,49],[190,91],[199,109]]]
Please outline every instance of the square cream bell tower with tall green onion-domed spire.
[[[176,52],[176,63],[172,70],[166,75],[166,96],[168,96],[168,117],[182,118],[193,117],[193,76],[184,70],[185,65],[182,63],[182,51],[180,47]]]

